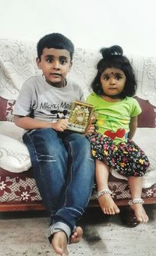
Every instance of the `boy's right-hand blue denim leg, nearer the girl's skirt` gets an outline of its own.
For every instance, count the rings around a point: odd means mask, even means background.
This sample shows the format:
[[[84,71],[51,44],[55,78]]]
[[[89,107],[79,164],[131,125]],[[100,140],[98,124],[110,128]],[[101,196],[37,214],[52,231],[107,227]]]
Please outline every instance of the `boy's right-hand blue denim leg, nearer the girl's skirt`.
[[[64,205],[55,215],[73,230],[76,219],[80,219],[90,199],[94,185],[94,159],[90,151],[90,142],[79,133],[67,133],[63,140],[68,151],[69,176],[66,185]]]

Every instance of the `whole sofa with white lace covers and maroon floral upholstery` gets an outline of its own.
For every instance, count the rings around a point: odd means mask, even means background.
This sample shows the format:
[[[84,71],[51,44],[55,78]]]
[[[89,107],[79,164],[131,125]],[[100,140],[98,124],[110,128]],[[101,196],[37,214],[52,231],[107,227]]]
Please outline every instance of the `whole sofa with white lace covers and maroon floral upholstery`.
[[[35,63],[36,56],[35,42],[0,39],[0,211],[43,208],[30,169],[29,153],[22,141],[23,129],[12,123],[12,108],[23,82],[40,72]],[[156,56],[127,56],[137,75],[137,99],[143,109],[134,140],[151,162],[149,172],[144,176],[143,197],[147,204],[156,203]],[[69,76],[80,84],[86,96],[100,58],[98,50],[90,52],[76,48]],[[130,194],[125,178],[112,171],[109,186],[117,204],[127,204]],[[92,205],[93,202],[97,204],[93,200]]]

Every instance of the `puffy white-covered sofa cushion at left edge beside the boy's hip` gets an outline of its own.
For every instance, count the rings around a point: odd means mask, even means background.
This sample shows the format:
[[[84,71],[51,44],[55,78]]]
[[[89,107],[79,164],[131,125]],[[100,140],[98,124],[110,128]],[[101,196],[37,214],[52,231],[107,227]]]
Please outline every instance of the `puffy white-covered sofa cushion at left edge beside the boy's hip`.
[[[15,123],[0,121],[0,167],[9,172],[30,169],[30,155],[23,144],[24,130]]]

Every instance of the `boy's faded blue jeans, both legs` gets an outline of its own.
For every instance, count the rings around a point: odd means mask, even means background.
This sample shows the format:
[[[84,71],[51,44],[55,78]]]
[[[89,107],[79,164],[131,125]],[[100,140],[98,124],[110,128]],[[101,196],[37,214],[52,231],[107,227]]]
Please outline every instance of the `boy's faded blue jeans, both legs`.
[[[79,133],[46,128],[28,131],[23,142],[30,152],[34,179],[51,224],[64,223],[71,233],[87,208],[94,185],[89,140]]]

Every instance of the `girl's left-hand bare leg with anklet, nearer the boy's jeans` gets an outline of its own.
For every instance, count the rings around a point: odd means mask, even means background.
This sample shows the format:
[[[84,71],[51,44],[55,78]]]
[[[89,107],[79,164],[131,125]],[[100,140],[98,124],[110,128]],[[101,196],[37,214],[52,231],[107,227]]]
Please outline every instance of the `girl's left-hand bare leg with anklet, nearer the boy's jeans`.
[[[96,181],[97,192],[99,193],[98,201],[101,210],[108,215],[119,213],[119,208],[112,199],[108,189],[109,168],[104,162],[96,159]],[[100,193],[101,191],[101,193]],[[102,191],[104,193],[102,193]]]

